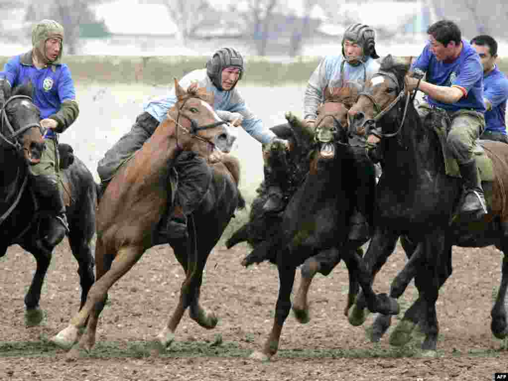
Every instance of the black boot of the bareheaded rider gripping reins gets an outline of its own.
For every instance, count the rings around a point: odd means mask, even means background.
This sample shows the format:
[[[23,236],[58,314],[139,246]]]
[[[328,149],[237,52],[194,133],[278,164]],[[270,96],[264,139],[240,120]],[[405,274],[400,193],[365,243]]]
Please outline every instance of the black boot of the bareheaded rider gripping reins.
[[[464,181],[464,194],[462,204],[459,206],[459,216],[466,217],[470,221],[481,219],[488,212],[476,161],[460,164],[459,169]]]

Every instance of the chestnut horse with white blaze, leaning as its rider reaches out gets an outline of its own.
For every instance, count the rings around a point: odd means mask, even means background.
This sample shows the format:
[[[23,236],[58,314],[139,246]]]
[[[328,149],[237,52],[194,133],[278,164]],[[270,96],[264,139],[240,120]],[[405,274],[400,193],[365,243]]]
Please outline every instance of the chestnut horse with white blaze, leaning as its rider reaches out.
[[[176,79],[175,91],[178,101],[168,111],[168,118],[157,126],[134,157],[119,168],[100,199],[97,281],[81,311],[51,338],[56,345],[71,348],[70,358],[79,356],[80,348],[91,351],[95,344],[99,315],[111,286],[148,248],[164,243],[160,241],[157,227],[163,215],[171,214],[173,208],[173,200],[168,197],[171,195],[168,176],[178,155],[194,151],[208,157],[214,147],[223,152],[231,150],[235,131],[212,109],[213,94],[196,85],[185,91]],[[189,239],[170,242],[186,277],[171,319],[153,340],[156,352],[164,351],[173,341],[187,307],[190,307],[190,317],[200,326],[211,329],[217,324],[215,314],[199,304],[203,268],[235,209],[244,206],[238,190],[238,160],[230,155],[225,157],[213,165],[212,184],[199,209],[189,219]]]

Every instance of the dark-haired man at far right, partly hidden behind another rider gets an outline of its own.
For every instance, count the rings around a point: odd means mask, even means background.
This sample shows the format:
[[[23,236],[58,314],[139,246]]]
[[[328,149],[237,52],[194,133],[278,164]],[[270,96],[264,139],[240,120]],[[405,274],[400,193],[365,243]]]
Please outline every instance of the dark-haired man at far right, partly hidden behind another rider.
[[[474,37],[469,43],[480,55],[483,65],[483,100],[487,111],[485,112],[485,131],[480,139],[508,143],[505,121],[508,79],[495,64],[497,41],[491,36],[480,35]]]

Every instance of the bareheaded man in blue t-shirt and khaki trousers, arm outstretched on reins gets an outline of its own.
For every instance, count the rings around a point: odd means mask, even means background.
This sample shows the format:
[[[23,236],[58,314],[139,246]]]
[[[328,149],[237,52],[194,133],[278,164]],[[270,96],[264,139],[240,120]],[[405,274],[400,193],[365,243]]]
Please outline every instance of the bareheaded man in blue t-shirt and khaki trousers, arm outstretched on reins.
[[[461,37],[457,24],[441,20],[427,29],[429,42],[411,69],[426,73],[425,80],[407,75],[406,89],[425,93],[419,106],[424,116],[430,110],[444,110],[451,119],[447,145],[459,164],[464,194],[459,215],[478,219],[487,206],[473,146],[485,130],[483,66],[474,48]]]

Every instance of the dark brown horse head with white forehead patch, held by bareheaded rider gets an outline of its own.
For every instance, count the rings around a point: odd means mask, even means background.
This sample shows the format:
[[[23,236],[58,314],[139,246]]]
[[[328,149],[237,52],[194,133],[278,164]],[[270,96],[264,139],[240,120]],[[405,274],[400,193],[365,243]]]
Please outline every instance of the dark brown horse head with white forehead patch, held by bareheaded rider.
[[[408,94],[404,76],[409,70],[411,57],[387,55],[381,62],[379,71],[372,76],[360,92],[358,101],[348,111],[350,134],[367,135],[375,124],[385,117],[385,125],[393,131],[383,131],[384,136],[395,136],[400,132],[403,120],[399,120],[402,106],[400,100]],[[406,97],[406,108],[409,97]],[[405,112],[405,111],[404,111]]]

